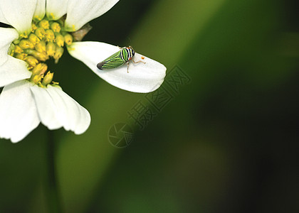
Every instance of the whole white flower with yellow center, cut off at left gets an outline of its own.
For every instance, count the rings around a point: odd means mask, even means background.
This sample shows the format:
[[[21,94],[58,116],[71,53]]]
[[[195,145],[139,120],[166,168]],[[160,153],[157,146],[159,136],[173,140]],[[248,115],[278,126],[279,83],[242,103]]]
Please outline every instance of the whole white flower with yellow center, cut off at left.
[[[48,71],[46,60],[58,62],[65,45],[74,58],[103,80],[131,92],[152,92],[163,82],[166,67],[135,53],[135,61],[112,70],[97,64],[119,48],[99,42],[78,42],[78,31],[101,16],[118,0],[1,0],[0,22],[0,138],[21,141],[41,122],[48,129],[63,127],[80,134],[90,125],[90,114],[65,94]],[[65,18],[66,14],[66,18]]]

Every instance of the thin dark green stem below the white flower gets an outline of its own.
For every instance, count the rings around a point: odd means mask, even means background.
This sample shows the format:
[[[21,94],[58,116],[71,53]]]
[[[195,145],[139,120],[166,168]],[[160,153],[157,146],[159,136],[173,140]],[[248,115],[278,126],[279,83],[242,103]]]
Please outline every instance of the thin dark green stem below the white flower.
[[[46,146],[47,153],[47,199],[48,212],[61,213],[61,202],[57,187],[56,164],[55,164],[55,141],[53,131],[48,130],[48,140]]]

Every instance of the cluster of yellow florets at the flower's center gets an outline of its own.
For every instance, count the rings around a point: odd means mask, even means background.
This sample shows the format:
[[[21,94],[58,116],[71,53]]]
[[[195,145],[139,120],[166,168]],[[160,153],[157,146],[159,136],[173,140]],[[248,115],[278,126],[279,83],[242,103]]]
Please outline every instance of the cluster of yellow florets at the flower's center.
[[[53,58],[57,63],[63,55],[63,46],[69,48],[73,43],[73,35],[65,31],[64,18],[56,21],[53,18],[53,13],[42,20],[34,16],[31,31],[19,33],[19,38],[11,43],[8,50],[9,55],[27,63],[27,69],[31,72],[28,81],[39,87],[58,84],[53,82],[54,73],[48,71],[48,65],[44,62]]]

